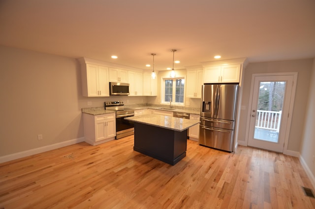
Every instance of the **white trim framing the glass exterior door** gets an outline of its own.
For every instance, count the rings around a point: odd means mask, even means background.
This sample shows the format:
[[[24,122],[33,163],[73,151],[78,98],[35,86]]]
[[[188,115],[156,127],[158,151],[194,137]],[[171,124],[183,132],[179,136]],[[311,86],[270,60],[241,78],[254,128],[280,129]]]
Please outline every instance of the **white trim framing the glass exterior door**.
[[[252,94],[253,94],[253,85],[254,85],[254,78],[255,76],[272,76],[272,75],[293,75],[293,86],[292,86],[292,94],[290,97],[290,105],[289,105],[289,116],[287,118],[287,124],[285,128],[285,137],[284,137],[284,154],[289,154],[290,150],[287,149],[289,135],[290,135],[290,127],[291,127],[291,121],[292,121],[292,115],[293,115],[293,107],[294,107],[294,99],[295,99],[295,92],[296,92],[296,82],[297,82],[297,72],[273,72],[273,73],[254,73],[252,74],[252,82],[251,82],[251,92],[250,92],[250,99],[248,106],[252,106]],[[247,116],[247,122],[246,122],[246,135],[245,135],[245,144],[248,144],[249,140],[249,132],[250,132],[250,121],[251,121],[251,114],[252,109],[248,108],[248,116]]]

